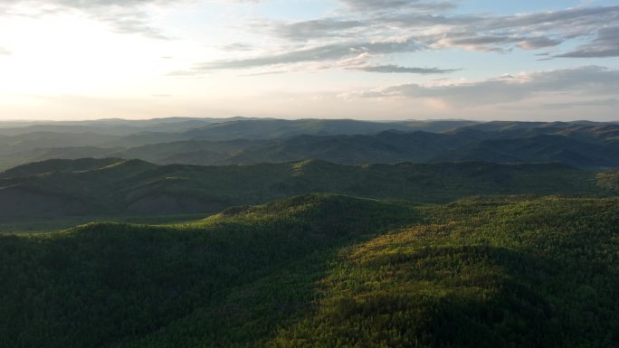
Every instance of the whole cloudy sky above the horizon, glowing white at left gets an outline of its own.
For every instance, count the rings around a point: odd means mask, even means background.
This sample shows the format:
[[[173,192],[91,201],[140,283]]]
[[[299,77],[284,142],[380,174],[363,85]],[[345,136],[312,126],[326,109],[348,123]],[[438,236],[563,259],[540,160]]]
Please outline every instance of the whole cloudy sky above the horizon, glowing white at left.
[[[0,120],[619,120],[619,0],[0,0]]]

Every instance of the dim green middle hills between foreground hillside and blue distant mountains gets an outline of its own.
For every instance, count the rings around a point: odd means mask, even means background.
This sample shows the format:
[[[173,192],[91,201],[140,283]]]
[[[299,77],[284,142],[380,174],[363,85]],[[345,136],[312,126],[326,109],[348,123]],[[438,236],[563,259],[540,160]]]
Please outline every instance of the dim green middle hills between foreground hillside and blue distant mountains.
[[[601,178],[601,177],[600,177]],[[0,174],[0,219],[217,212],[303,193],[408,202],[471,195],[598,195],[614,188],[566,165],[337,165],[322,161],[197,166],[138,160],[51,160]]]

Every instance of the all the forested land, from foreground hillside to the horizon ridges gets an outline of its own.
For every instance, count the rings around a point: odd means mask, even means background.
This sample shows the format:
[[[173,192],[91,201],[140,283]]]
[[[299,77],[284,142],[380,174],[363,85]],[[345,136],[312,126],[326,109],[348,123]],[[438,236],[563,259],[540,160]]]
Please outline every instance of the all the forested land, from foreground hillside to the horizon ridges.
[[[0,127],[0,347],[617,347],[616,134]]]

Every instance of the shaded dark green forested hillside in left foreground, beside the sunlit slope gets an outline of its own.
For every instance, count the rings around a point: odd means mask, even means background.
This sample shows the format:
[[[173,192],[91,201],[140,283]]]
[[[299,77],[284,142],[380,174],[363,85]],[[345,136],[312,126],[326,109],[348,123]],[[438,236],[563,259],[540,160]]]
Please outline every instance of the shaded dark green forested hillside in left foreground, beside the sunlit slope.
[[[2,237],[0,346],[130,342],[216,306],[238,287],[305,258],[323,262],[329,250],[414,219],[406,206],[310,195],[185,226],[100,223]],[[277,288],[275,282],[263,291]],[[302,290],[286,296],[305,306],[310,294]],[[204,324],[219,329],[218,318],[209,320]],[[248,327],[246,334],[265,329]]]

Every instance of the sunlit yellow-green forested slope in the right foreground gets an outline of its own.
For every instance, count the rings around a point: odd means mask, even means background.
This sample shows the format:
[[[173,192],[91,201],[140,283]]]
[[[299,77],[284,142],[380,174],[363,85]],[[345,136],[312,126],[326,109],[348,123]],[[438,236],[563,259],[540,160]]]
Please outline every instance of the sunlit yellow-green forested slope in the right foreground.
[[[341,252],[270,347],[614,347],[619,200],[424,208]]]

